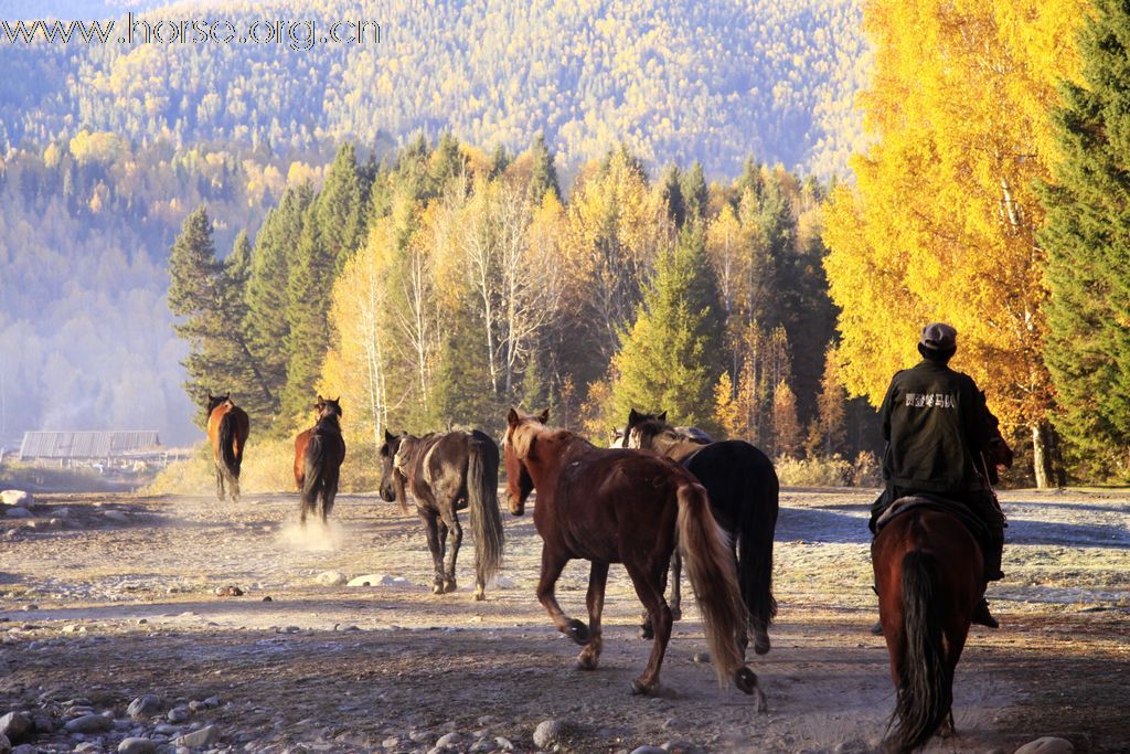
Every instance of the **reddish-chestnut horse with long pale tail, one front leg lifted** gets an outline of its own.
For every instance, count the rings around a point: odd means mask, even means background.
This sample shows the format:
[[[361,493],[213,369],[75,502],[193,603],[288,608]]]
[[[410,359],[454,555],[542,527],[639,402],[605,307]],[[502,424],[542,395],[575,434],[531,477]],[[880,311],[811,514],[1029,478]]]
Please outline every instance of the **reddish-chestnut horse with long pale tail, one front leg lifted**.
[[[745,610],[738,575],[725,539],[711,515],[706,491],[678,463],[654,453],[602,449],[564,430],[545,426],[538,416],[511,409],[504,443],[506,500],[521,515],[538,491],[533,523],[541,536],[538,600],[558,631],[584,649],[577,667],[597,667],[602,648],[600,616],[608,566],[623,563],[654,626],[651,659],[632,683],[633,693],[659,690],[659,671],[671,636],[671,610],[663,598],[663,573],[676,541],[683,548],[690,583],[703,615],[706,642],[719,683],[765,695],[745,666],[739,636]],[[573,558],[592,563],[589,573],[589,622],[570,618],[554,587]]]

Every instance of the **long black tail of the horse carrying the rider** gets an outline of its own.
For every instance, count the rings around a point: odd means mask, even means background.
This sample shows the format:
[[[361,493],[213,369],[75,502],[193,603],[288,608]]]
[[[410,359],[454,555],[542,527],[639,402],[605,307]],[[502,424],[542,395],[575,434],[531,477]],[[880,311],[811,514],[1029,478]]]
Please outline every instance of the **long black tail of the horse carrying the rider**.
[[[945,721],[954,701],[954,681],[942,643],[942,615],[931,555],[903,556],[905,650],[889,743],[899,752],[922,746]]]

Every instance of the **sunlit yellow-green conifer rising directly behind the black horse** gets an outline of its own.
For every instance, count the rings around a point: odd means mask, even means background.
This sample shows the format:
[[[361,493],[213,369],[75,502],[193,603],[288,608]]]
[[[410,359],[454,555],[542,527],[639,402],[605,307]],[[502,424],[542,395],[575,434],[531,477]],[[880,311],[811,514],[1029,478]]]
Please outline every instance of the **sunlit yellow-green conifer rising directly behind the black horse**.
[[[612,358],[612,418],[633,408],[664,409],[671,421],[718,431],[716,297],[702,236],[685,236],[661,255],[632,327]]]

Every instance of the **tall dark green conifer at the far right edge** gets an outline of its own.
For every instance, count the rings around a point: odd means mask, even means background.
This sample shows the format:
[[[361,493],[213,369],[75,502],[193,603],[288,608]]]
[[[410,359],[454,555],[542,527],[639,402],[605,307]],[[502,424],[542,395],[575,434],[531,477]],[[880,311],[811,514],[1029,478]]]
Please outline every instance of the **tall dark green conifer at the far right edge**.
[[[1054,129],[1063,159],[1043,192],[1045,358],[1057,428],[1098,476],[1128,473],[1130,444],[1130,8],[1098,0]]]

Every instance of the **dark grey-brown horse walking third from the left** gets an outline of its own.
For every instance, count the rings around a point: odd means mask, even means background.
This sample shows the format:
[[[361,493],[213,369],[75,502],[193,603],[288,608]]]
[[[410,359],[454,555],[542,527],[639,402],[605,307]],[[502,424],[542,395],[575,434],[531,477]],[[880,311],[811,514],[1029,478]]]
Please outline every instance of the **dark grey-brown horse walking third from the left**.
[[[471,432],[423,437],[384,432],[381,445],[381,497],[408,511],[406,492],[416,501],[435,564],[432,593],[455,591],[455,558],[463,540],[460,511],[470,508],[475,532],[475,599],[502,566],[503,529],[498,513],[498,445]],[[407,488],[407,489],[406,489]],[[447,563],[444,565],[444,551]]]

